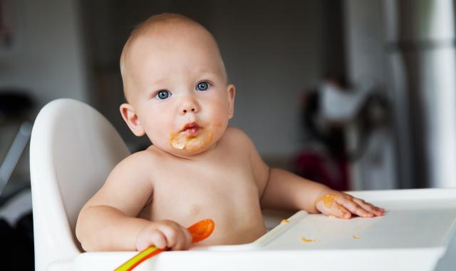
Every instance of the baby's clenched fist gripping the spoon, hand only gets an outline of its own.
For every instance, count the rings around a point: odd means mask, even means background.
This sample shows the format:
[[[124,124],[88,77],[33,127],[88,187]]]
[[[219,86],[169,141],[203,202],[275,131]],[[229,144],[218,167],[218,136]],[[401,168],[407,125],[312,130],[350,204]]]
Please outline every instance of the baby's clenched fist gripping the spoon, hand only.
[[[171,250],[187,250],[191,244],[190,232],[171,220],[154,221],[144,227],[136,237],[136,249],[139,251],[151,245]]]

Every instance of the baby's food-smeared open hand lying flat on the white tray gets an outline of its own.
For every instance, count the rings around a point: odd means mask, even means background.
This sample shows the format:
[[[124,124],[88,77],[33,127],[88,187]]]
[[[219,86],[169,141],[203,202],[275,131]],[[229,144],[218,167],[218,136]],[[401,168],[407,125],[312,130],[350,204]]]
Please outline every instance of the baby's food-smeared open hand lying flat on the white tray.
[[[351,214],[362,218],[373,218],[381,216],[385,212],[383,208],[378,208],[364,200],[337,191],[330,191],[317,198],[315,208],[325,215],[347,219],[351,218]]]

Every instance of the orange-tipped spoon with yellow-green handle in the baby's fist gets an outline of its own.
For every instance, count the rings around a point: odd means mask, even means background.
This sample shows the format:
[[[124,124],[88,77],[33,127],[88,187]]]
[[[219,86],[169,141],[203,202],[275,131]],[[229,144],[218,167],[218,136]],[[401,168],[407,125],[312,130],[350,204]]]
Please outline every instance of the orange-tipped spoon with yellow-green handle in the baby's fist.
[[[190,227],[187,227],[187,230],[192,234],[192,243],[193,242],[199,242],[212,234],[214,231],[215,223],[214,220],[212,219],[204,219],[201,220]],[[150,246],[147,247],[145,250],[142,250],[139,252],[137,255],[132,257],[130,260],[125,262],[123,265],[120,265],[115,271],[130,271],[133,270],[133,268],[137,267],[141,262],[144,262],[145,260],[149,259],[150,257],[157,255],[158,253],[167,250],[157,248],[155,246]]]

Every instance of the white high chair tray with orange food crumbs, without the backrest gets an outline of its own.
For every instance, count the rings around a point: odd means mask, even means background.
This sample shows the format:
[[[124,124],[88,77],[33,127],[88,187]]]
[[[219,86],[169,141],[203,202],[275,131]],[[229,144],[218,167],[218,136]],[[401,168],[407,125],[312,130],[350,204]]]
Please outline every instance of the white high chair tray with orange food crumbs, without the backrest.
[[[300,211],[250,244],[162,252],[135,270],[433,270],[456,245],[456,190],[350,194],[385,208],[385,215],[343,220]],[[133,255],[86,252],[73,263],[76,270],[113,270]],[[445,259],[456,266],[456,259]]]

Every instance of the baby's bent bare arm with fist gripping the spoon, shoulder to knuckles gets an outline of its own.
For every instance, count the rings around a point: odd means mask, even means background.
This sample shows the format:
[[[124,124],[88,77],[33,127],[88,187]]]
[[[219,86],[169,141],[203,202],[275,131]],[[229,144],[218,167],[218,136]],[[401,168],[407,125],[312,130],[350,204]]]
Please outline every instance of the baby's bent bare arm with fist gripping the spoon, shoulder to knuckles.
[[[150,245],[181,250],[192,237],[175,222],[136,218],[151,200],[149,159],[135,153],[119,163],[103,187],[84,205],[76,236],[86,251],[143,250]]]

